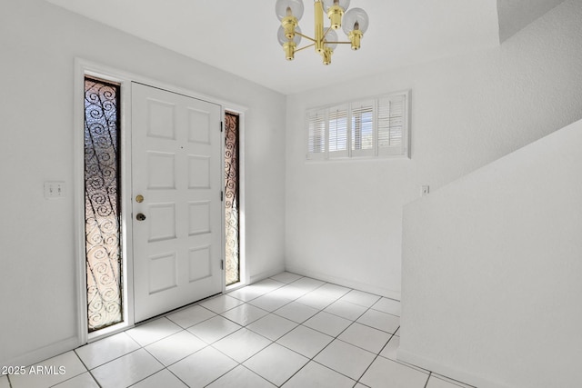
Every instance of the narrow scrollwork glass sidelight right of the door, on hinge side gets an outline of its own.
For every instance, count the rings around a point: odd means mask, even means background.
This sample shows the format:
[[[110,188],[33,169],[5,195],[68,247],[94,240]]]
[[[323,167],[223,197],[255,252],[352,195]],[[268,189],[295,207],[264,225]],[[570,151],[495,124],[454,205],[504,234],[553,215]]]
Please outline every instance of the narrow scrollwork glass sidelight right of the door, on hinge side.
[[[240,281],[238,228],[238,115],[225,114],[226,285]]]

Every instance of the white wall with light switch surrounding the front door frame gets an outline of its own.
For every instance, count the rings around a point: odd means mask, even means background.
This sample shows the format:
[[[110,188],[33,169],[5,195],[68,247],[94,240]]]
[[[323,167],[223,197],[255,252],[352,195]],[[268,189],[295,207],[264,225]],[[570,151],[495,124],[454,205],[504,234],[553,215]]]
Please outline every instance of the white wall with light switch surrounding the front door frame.
[[[250,277],[284,267],[285,96],[42,0],[0,5],[0,364],[77,343],[74,58],[244,105]],[[65,181],[47,201],[45,181]]]

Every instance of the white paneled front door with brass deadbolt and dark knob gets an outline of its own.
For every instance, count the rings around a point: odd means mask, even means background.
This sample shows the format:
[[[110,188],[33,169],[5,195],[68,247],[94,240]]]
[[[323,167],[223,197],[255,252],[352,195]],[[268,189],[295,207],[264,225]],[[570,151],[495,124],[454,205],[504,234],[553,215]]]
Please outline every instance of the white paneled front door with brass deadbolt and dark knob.
[[[135,323],[223,289],[221,107],[132,84]]]

